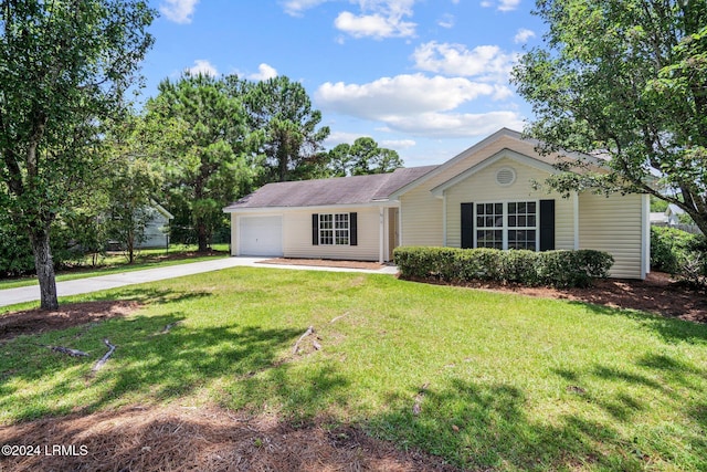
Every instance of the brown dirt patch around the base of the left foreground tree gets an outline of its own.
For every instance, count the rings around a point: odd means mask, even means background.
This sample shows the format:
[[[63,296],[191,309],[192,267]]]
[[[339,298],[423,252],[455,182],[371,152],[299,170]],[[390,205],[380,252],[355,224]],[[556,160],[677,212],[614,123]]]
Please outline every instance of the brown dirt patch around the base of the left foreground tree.
[[[25,310],[0,316],[0,342],[22,335],[65,329],[116,316],[126,316],[139,307],[137,302],[84,302],[61,305],[59,310]]]

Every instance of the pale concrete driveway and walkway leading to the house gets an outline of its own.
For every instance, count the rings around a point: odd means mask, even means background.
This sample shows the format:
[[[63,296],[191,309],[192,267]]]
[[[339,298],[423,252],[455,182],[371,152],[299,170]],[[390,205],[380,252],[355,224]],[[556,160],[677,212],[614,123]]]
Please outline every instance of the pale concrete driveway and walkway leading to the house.
[[[167,268],[146,269],[143,271],[120,272],[97,277],[77,279],[73,281],[56,282],[56,293],[59,296],[78,295],[82,293],[98,292],[102,290],[116,289],[125,285],[140,284],[146,282],[161,281],[165,279],[181,277],[184,275],[200,274],[203,272],[220,271],[222,269],[236,266],[256,266],[262,269],[289,269],[304,271],[328,271],[328,272],[362,272],[373,274],[394,274],[398,272],[394,266],[384,266],[379,270],[366,269],[342,269],[323,268],[309,265],[281,265],[260,264],[267,258],[225,258],[213,261],[193,262],[190,264],[170,265]],[[40,289],[38,285],[23,286],[19,289],[0,290],[0,306],[14,305],[17,303],[34,302],[40,300]]]

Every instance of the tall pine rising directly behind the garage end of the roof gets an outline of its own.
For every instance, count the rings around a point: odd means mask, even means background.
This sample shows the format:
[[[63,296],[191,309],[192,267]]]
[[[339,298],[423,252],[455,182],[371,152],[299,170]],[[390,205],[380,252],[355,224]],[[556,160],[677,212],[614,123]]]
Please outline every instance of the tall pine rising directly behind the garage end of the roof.
[[[307,179],[317,169],[329,128],[317,128],[321,112],[313,109],[305,87],[286,76],[251,84],[245,96],[250,124],[263,134],[265,181]]]

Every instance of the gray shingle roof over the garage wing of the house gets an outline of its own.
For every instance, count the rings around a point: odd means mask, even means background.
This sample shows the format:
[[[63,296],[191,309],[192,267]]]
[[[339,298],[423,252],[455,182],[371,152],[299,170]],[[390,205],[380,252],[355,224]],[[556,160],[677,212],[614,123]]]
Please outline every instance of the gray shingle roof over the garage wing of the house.
[[[367,204],[386,200],[399,188],[424,176],[437,166],[395,169],[390,174],[338,177],[267,183],[224,210],[245,208],[295,208],[328,204]]]

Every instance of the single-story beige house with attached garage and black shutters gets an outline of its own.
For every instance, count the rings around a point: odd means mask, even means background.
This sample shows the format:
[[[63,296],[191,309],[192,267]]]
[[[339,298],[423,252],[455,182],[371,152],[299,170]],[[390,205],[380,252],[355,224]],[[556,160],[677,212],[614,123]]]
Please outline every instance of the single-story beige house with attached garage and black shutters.
[[[389,261],[398,245],[595,249],[611,275],[650,270],[645,195],[535,190],[558,170],[537,141],[502,129],[441,166],[268,183],[224,208],[232,253]]]

